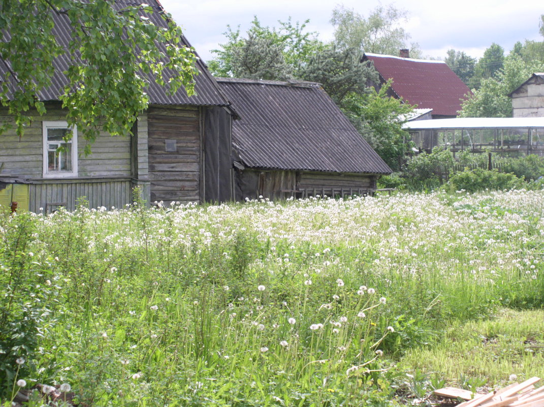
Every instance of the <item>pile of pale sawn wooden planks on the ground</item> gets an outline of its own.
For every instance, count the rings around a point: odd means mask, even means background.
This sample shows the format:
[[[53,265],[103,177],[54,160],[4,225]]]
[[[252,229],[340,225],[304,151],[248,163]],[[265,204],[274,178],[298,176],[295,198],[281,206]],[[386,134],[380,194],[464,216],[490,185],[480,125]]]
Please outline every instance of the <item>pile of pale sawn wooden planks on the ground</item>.
[[[456,407],[544,407],[544,386],[535,388],[539,380],[533,377],[487,394],[473,394],[455,387],[444,387],[434,393],[441,397],[466,400]]]

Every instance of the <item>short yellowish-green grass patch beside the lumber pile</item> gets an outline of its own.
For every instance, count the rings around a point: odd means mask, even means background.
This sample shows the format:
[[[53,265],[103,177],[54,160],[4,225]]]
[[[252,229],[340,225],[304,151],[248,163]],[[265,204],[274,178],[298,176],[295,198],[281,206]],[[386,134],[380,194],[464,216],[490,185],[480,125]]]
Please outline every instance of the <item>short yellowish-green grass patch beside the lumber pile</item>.
[[[456,323],[440,342],[411,349],[400,363],[453,386],[469,378],[502,386],[511,374],[518,381],[544,378],[544,311],[501,310],[491,319]]]

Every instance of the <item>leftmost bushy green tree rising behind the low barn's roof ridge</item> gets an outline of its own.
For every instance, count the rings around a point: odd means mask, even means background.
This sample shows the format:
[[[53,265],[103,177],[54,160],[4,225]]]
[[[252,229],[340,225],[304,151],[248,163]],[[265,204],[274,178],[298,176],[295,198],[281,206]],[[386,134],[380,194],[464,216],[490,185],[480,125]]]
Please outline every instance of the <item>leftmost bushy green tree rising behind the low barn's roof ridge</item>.
[[[323,47],[317,33],[305,32],[306,24],[279,21],[280,27],[263,27],[257,16],[245,37],[238,28],[227,26],[222,50],[212,50],[217,55],[208,61],[210,71],[217,76],[278,79],[298,76],[310,55]]]

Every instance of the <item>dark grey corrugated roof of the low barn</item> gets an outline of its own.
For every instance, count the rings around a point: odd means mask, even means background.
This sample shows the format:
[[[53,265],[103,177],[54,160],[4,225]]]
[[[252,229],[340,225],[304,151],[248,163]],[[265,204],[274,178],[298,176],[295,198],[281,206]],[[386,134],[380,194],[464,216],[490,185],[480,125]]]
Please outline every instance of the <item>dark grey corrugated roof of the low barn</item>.
[[[319,84],[217,81],[240,116],[232,139],[246,167],[391,173]]]

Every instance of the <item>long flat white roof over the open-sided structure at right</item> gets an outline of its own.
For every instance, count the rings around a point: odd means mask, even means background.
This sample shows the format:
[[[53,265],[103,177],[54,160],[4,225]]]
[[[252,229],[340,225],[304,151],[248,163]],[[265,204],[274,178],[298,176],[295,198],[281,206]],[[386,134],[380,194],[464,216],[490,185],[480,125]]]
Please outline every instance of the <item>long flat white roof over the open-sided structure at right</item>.
[[[409,121],[410,130],[458,128],[544,128],[544,118],[456,118]]]

